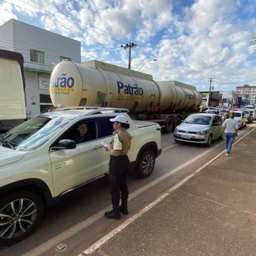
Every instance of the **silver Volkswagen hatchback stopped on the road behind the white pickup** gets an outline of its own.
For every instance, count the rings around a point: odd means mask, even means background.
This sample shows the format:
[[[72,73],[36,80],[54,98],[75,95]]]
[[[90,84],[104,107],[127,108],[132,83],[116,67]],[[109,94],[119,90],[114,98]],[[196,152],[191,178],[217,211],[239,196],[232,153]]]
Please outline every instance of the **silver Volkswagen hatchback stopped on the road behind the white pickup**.
[[[222,119],[216,114],[191,114],[175,128],[176,142],[186,141],[211,145],[215,139],[222,140]]]

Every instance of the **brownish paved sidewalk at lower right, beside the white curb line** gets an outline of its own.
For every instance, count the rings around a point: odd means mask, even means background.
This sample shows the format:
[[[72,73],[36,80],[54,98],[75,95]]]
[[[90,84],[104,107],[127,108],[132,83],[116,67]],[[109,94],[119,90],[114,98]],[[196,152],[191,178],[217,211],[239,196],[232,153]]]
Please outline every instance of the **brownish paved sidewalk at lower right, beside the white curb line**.
[[[256,255],[256,129],[91,255]]]

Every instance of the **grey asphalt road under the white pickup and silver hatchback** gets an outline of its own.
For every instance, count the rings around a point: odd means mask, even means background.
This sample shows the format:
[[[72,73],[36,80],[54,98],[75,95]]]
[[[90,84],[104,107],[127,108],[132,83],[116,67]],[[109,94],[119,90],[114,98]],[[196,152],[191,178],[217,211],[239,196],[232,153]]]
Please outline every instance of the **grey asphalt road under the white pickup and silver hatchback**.
[[[239,136],[250,130],[250,124]],[[75,195],[47,209],[40,227],[26,240],[0,248],[0,255],[77,255],[124,220],[145,207],[164,191],[177,184],[224,149],[224,140],[210,147],[175,143],[173,134],[162,134],[163,152],[156,160],[155,170],[146,179],[129,177],[129,211],[121,220],[108,220],[104,211],[111,207],[108,178],[94,181]],[[65,248],[57,251],[56,246]],[[66,247],[67,246],[67,247]]]

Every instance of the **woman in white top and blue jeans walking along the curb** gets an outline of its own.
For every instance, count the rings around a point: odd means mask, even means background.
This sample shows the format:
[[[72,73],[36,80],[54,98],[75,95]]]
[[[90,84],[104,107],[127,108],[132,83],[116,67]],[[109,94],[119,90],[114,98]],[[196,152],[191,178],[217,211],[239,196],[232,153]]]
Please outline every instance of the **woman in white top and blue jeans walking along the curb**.
[[[234,112],[230,112],[229,118],[225,119],[224,123],[222,124],[222,132],[225,133],[226,140],[226,156],[230,156],[230,151],[238,129],[239,124],[238,121],[234,119]]]

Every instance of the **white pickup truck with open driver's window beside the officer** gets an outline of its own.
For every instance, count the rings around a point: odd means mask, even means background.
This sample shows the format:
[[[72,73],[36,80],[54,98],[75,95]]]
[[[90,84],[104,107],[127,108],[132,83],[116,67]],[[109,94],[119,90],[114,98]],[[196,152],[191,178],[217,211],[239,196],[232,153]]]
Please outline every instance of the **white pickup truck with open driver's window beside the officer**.
[[[157,123],[135,121],[124,109],[71,107],[34,117],[0,136],[0,245],[23,240],[39,225],[45,207],[61,196],[108,173],[110,118],[123,114],[132,135],[131,168],[142,178],[151,175],[160,155]],[[86,122],[91,140],[71,140]]]

